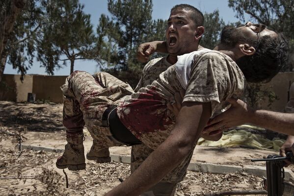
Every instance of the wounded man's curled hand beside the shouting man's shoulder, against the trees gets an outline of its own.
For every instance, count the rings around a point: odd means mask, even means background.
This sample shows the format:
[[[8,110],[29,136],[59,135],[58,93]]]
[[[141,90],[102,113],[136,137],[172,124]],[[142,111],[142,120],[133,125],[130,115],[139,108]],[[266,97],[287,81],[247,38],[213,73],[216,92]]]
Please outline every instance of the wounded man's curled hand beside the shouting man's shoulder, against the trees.
[[[157,42],[147,42],[140,44],[137,50],[137,60],[141,63],[146,63],[149,56],[157,49]]]

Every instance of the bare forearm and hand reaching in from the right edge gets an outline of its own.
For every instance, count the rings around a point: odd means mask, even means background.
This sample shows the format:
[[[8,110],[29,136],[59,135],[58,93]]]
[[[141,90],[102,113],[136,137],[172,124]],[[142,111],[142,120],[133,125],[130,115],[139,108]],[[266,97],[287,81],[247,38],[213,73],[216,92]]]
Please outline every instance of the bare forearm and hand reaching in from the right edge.
[[[251,123],[287,135],[294,135],[294,114],[253,110],[240,99],[230,99],[229,102],[232,106],[210,120],[205,132]]]

